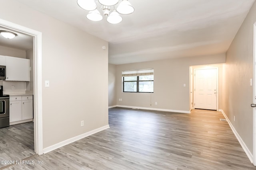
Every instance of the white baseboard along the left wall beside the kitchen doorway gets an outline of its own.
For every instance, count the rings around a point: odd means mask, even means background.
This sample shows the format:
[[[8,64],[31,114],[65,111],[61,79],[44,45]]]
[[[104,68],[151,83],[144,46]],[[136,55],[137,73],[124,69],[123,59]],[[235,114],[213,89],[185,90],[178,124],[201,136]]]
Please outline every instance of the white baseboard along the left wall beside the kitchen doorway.
[[[75,142],[75,141],[78,141],[78,140],[80,140],[80,139],[83,139],[83,138],[85,138],[85,137],[88,137],[88,136],[90,136],[90,135],[93,135],[94,133],[98,133],[98,132],[103,131],[103,130],[108,129],[108,128],[109,128],[109,125],[106,125],[106,126],[103,126],[103,127],[98,128],[98,129],[94,129],[94,130],[92,130],[92,131],[89,131],[89,132],[86,132],[86,133],[84,133],[84,134],[78,135],[78,136],[76,136],[76,137],[72,137],[72,138],[67,139],[67,140],[65,140],[65,141],[62,141],[62,142],[60,142],[60,143],[56,143],[55,145],[52,145],[52,146],[47,147],[47,148],[44,148],[44,149],[43,149],[43,153],[46,154],[47,152],[50,152],[50,151],[55,150],[55,149],[58,149],[58,148],[60,148],[60,147],[63,147],[63,146],[65,146],[65,145],[68,145],[68,144],[70,144],[70,143],[73,143],[73,142]]]

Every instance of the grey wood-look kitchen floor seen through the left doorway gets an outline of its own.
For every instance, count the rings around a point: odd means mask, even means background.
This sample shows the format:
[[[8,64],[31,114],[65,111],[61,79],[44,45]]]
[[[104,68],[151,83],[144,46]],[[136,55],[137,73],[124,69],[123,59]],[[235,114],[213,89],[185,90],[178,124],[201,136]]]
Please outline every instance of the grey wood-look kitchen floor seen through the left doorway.
[[[34,123],[0,128],[0,160],[22,160],[35,154]],[[5,164],[0,164],[0,168]]]

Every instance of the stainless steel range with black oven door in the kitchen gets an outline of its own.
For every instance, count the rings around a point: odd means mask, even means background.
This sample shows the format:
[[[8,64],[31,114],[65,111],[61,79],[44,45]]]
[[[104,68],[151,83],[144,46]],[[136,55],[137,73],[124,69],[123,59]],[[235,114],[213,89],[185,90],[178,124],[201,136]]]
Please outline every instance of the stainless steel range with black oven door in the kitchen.
[[[9,100],[10,96],[3,94],[3,86],[0,86],[0,128],[10,125]]]

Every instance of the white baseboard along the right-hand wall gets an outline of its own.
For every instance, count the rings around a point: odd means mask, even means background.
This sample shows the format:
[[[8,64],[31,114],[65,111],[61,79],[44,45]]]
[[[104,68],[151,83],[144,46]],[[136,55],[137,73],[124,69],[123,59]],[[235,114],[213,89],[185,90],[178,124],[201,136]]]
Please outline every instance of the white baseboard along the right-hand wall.
[[[230,122],[230,120],[228,119],[227,115],[224,113],[224,111],[222,109],[219,109],[219,111],[222,112],[222,114],[224,115],[224,117],[226,118],[226,121],[228,122],[230,128],[232,129],[234,135],[236,136],[236,139],[238,140],[238,142],[240,143],[240,145],[242,146],[242,148],[244,149],[244,152],[246,153],[246,155],[248,156],[249,160],[251,161],[251,163],[253,162],[253,156],[252,153],[250,152],[250,150],[248,149],[248,147],[245,145],[244,141],[242,140],[242,138],[240,137],[240,135],[237,133],[236,129],[234,128],[234,126],[232,125],[232,123]]]

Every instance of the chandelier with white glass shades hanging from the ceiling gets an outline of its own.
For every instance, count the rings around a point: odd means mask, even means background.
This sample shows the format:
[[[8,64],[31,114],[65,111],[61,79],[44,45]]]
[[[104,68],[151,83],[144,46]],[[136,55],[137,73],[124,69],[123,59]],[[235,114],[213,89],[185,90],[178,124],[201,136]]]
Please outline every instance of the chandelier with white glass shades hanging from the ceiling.
[[[88,20],[101,21],[103,19],[103,16],[97,9],[96,2],[99,3],[99,9],[102,9],[103,15],[107,17],[108,23],[120,23],[123,20],[120,14],[127,15],[134,12],[134,8],[128,0],[122,0],[116,9],[115,5],[118,4],[119,0],[77,0],[78,6],[89,11],[86,15]],[[110,11],[112,12],[110,13]]]

